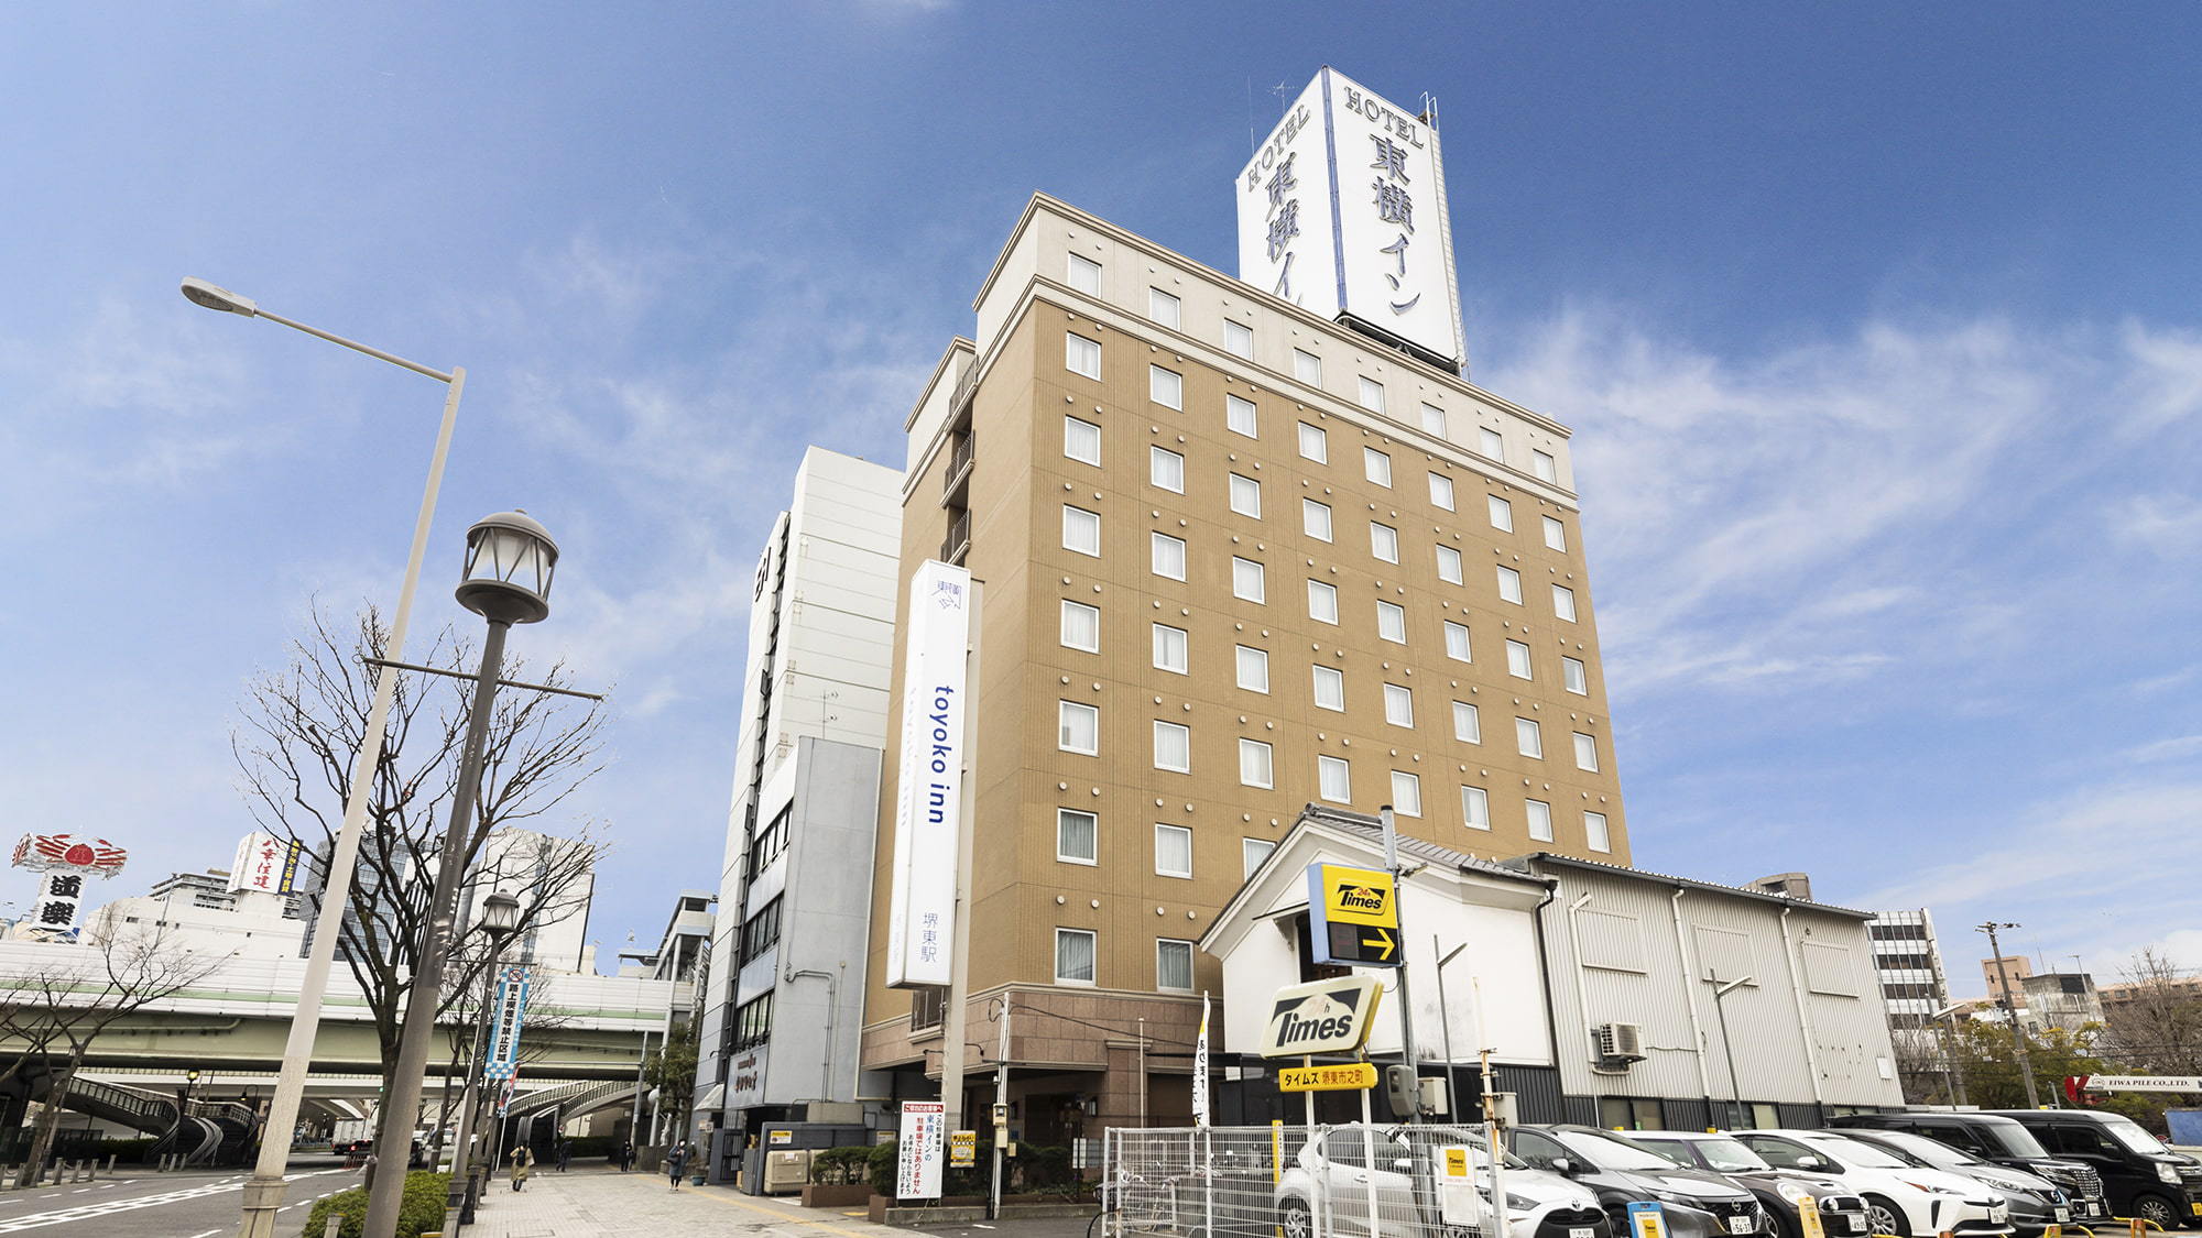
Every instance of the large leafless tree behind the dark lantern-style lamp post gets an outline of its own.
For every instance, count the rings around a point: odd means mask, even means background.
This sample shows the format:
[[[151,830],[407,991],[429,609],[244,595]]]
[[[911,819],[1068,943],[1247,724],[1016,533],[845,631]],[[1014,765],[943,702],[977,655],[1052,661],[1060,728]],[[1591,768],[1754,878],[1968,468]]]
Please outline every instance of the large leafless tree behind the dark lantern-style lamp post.
[[[242,723],[231,734],[244,800],[260,828],[302,844],[324,883],[344,824],[352,758],[374,703],[374,667],[366,659],[383,656],[385,648],[388,628],[372,606],[350,630],[333,626],[315,606],[310,630],[291,645],[291,663],[249,685]],[[471,674],[473,650],[445,628],[421,663]],[[509,661],[504,676],[524,678],[524,663]],[[568,685],[564,663],[550,665],[542,683]],[[385,1090],[458,789],[471,687],[447,676],[401,678],[341,919],[339,954],[374,1018]],[[588,901],[595,866],[606,853],[597,830],[573,822],[562,830],[566,837],[542,839],[515,828],[544,824],[603,769],[603,725],[599,703],[526,689],[498,694],[482,751],[480,795],[465,837],[462,914],[476,905],[478,892],[502,888],[520,899],[517,932],[526,934],[577,914]],[[458,932],[465,930],[462,921]],[[447,1027],[487,963],[484,952],[465,938],[454,945],[438,1002],[438,1022]],[[401,1126],[392,1126],[392,1115],[377,1115],[379,1145],[403,1148],[414,1119],[401,1115],[394,1119]]]

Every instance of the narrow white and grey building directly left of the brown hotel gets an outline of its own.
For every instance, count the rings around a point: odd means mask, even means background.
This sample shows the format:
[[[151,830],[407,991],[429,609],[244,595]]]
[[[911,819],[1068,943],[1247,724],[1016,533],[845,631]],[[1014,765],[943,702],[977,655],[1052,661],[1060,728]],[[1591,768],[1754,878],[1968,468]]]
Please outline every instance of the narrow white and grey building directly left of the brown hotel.
[[[766,1121],[857,1099],[901,471],[810,447],[757,555],[696,1115],[731,1179]],[[839,1106],[839,1108],[835,1108]]]

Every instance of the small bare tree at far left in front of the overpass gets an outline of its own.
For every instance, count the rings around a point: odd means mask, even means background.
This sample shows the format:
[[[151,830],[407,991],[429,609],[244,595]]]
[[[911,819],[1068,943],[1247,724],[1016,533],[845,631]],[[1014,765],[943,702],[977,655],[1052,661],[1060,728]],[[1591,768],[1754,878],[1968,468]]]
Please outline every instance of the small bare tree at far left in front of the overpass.
[[[165,934],[117,925],[112,916],[88,927],[79,945],[24,943],[0,956],[0,1042],[9,1044],[0,1079],[46,1079],[46,1106],[18,1187],[37,1181],[62,1128],[62,1097],[92,1044],[119,1020],[198,985],[222,960]]]

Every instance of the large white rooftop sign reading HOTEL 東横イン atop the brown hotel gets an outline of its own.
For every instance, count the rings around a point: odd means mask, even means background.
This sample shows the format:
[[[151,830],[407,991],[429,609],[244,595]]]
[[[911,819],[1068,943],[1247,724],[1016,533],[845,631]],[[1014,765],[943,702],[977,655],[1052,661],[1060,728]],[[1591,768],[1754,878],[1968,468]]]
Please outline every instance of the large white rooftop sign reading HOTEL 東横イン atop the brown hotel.
[[[1238,178],[1240,280],[1453,363],[1460,286],[1438,130],[1323,66]]]

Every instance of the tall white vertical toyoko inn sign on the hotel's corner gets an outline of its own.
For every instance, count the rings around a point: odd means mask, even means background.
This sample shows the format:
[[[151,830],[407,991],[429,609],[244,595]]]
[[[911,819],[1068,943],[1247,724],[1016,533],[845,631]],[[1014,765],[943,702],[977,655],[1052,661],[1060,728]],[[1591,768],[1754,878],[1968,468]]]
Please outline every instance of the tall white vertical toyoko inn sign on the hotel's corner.
[[[909,577],[903,630],[903,749],[894,778],[887,985],[947,985],[962,837],[964,652],[971,573],[927,560]]]

